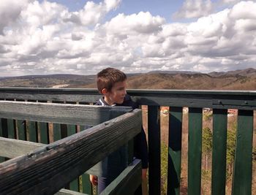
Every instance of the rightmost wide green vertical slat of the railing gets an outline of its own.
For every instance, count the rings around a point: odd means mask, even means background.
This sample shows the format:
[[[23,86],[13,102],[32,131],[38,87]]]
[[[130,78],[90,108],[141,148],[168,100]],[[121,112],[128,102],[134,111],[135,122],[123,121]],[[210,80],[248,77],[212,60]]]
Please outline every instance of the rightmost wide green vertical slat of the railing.
[[[238,110],[232,194],[252,194],[253,111]]]

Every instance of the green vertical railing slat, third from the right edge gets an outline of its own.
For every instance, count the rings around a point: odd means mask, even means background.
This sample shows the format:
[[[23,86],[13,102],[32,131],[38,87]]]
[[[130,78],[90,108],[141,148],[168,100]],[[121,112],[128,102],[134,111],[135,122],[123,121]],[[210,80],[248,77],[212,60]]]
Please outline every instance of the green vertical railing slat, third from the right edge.
[[[202,158],[202,108],[189,107],[188,194],[200,194]]]

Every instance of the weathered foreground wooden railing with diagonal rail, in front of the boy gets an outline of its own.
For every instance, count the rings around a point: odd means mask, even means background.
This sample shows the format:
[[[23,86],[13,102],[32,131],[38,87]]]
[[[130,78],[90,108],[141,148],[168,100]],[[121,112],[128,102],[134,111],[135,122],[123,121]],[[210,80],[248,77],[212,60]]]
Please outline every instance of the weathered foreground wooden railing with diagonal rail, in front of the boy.
[[[12,158],[0,164],[0,194],[55,194],[135,137],[142,125],[141,110],[80,104],[1,100],[0,117],[0,156]],[[54,142],[34,143],[49,139],[50,123]],[[61,124],[68,136],[63,139]],[[84,126],[92,127],[83,131]],[[20,137],[33,142],[16,140]],[[140,161],[133,161],[102,194],[131,193],[140,185],[140,175]]]

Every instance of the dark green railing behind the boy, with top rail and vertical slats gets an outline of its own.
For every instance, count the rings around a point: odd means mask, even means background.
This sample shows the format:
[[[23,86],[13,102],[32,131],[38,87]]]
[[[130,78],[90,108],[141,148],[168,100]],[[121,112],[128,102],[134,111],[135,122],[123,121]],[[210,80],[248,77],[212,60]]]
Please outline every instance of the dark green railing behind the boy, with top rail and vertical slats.
[[[160,107],[170,107],[167,194],[179,194],[181,183],[181,134],[184,107],[189,112],[188,194],[201,193],[203,108],[213,110],[211,194],[225,194],[227,110],[238,110],[233,194],[252,194],[252,135],[256,91],[148,91],[129,90],[140,105],[148,106],[148,189],[160,194]],[[0,99],[79,102],[99,99],[91,89],[0,88]]]

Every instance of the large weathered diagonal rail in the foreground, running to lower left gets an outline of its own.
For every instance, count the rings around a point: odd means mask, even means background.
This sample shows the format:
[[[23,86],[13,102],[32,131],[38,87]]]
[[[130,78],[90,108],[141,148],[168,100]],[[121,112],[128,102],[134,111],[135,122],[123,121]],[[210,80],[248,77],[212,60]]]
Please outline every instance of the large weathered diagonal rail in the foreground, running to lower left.
[[[54,194],[140,130],[141,110],[133,110],[6,161],[0,164],[0,194]]]

